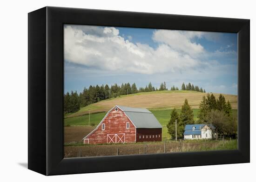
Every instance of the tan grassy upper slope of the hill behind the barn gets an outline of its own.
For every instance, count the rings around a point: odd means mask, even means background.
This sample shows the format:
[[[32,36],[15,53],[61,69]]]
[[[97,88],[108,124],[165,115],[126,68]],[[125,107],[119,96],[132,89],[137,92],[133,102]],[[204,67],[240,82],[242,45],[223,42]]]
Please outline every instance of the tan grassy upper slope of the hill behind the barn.
[[[89,113],[108,112],[115,105],[128,107],[144,107],[154,110],[167,110],[170,108],[181,108],[185,99],[188,99],[192,108],[197,109],[202,100],[202,96],[207,93],[195,91],[155,91],[143,92],[137,94],[121,95],[117,98],[102,100],[100,102],[82,107],[78,112],[65,115],[65,118],[81,116]],[[216,98],[219,94],[214,94]],[[223,94],[226,100],[229,100],[231,107],[237,109],[237,95]]]

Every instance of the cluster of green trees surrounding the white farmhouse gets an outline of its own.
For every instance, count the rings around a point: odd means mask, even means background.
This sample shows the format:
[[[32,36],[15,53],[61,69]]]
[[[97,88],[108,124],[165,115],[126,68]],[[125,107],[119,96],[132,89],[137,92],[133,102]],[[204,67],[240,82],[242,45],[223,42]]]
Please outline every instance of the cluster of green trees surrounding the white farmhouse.
[[[213,94],[202,97],[199,106],[198,120],[194,120],[194,113],[188,100],[185,99],[181,112],[174,108],[171,111],[171,118],[167,124],[168,133],[175,138],[175,120],[177,120],[177,137],[183,138],[184,128],[189,124],[211,124],[215,126],[216,139],[218,134],[236,136],[237,118],[232,115],[232,107],[229,100],[220,94],[218,99]]]

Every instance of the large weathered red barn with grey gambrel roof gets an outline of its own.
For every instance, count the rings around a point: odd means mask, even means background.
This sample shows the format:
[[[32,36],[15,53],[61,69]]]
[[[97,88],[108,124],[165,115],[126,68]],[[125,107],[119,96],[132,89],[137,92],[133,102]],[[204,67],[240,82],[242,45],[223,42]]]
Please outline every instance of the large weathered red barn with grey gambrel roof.
[[[162,141],[162,125],[148,109],[115,106],[83,141],[84,144]]]

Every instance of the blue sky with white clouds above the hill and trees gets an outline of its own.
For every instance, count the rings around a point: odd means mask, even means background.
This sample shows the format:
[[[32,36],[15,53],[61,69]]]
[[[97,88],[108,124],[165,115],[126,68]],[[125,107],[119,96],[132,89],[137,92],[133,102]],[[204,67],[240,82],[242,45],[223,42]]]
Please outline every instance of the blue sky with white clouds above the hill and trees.
[[[237,94],[237,34],[64,26],[64,92],[125,82]]]

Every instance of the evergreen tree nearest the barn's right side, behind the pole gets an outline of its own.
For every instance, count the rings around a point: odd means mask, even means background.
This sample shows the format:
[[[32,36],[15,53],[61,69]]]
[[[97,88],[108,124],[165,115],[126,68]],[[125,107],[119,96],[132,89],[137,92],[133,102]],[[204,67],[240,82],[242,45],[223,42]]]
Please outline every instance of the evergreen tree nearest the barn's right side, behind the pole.
[[[180,122],[180,117],[176,109],[174,108],[171,111],[171,119],[169,120],[168,124],[166,125],[168,133],[170,134],[171,138],[175,138],[175,120],[177,119],[177,138],[182,138],[183,135],[183,126]]]

